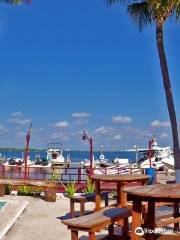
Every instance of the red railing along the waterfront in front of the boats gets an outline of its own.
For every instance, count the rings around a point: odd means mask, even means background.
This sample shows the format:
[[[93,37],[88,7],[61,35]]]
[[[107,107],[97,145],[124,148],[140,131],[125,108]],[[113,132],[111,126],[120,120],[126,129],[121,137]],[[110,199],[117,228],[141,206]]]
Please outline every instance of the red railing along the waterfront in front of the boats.
[[[88,171],[81,167],[27,167],[27,174],[25,178],[24,166],[6,166],[0,165],[0,178],[8,179],[21,179],[21,180],[52,180],[57,178],[62,182],[76,181],[77,183],[86,182]],[[93,169],[94,174],[126,174],[126,173],[144,173],[145,169],[142,168],[95,168]],[[55,179],[53,179],[55,180]]]

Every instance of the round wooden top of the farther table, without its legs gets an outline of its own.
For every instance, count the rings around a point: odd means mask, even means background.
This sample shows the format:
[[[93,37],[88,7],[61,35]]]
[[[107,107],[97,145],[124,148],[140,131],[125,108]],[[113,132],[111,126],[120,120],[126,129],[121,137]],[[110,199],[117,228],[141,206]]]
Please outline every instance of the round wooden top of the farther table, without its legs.
[[[149,178],[150,176],[146,174],[100,174],[91,176],[93,181],[105,182],[138,182],[146,181]]]

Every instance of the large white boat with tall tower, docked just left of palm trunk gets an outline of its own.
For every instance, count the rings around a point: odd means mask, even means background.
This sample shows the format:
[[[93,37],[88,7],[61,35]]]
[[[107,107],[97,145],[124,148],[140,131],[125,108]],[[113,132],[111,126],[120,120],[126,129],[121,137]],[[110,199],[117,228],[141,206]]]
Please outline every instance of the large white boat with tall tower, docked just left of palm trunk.
[[[150,168],[149,149],[139,149],[141,158],[138,160],[138,165],[141,168]],[[160,170],[164,167],[163,160],[172,155],[171,147],[159,147],[155,138],[152,139],[151,146],[151,163],[152,167]]]

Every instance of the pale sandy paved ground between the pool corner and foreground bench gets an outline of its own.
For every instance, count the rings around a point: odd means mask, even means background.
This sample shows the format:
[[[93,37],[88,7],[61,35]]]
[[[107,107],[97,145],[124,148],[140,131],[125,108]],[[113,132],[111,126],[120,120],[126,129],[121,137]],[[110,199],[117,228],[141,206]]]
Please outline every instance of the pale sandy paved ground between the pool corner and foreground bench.
[[[69,240],[70,231],[61,223],[60,218],[67,217],[69,199],[61,198],[56,202],[45,202],[39,198],[6,196],[4,199],[14,199],[29,202],[26,210],[6,234],[4,240]],[[93,204],[88,203],[89,209]],[[78,208],[78,205],[77,205]],[[82,233],[85,235],[84,233]],[[99,235],[102,236],[101,233]],[[86,236],[80,238],[87,240]]]

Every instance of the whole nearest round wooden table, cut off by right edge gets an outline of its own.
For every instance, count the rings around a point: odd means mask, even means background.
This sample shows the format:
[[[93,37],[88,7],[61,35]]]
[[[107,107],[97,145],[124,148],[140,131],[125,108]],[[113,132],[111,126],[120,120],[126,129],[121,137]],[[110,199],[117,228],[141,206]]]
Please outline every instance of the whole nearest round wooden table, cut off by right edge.
[[[134,186],[124,188],[124,192],[128,195],[128,199],[133,201],[132,211],[132,240],[141,239],[135,232],[138,227],[141,227],[142,201],[148,202],[148,213],[145,228],[147,231],[146,240],[156,239],[154,234],[155,229],[155,203],[170,202],[174,203],[174,218],[167,221],[170,223],[180,222],[179,217],[179,202],[180,202],[180,184],[155,184],[146,186]]]

